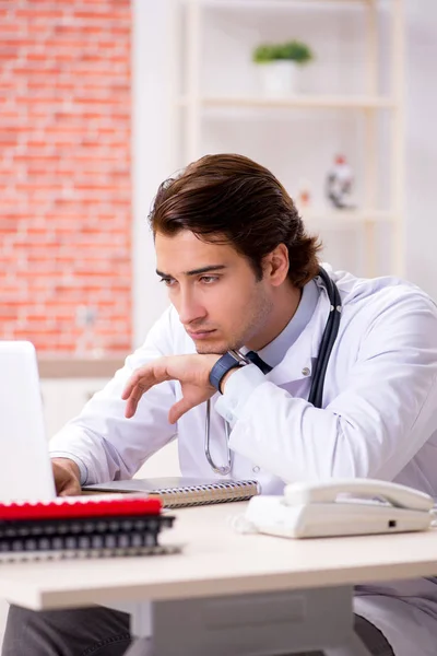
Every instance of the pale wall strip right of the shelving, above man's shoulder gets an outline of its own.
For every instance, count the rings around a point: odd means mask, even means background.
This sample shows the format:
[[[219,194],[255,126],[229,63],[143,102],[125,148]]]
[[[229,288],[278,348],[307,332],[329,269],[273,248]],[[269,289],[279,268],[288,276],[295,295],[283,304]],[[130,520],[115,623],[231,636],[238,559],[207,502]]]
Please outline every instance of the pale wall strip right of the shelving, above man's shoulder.
[[[406,274],[437,300],[437,2],[405,9]]]

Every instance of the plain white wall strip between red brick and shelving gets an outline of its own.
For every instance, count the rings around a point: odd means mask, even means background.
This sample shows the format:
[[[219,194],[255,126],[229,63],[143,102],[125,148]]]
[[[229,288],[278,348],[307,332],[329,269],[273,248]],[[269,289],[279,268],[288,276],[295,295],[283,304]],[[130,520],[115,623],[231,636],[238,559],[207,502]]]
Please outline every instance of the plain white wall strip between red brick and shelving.
[[[132,0],[132,270],[133,343],[139,345],[166,306],[155,274],[147,214],[170,173],[167,52],[168,0]]]

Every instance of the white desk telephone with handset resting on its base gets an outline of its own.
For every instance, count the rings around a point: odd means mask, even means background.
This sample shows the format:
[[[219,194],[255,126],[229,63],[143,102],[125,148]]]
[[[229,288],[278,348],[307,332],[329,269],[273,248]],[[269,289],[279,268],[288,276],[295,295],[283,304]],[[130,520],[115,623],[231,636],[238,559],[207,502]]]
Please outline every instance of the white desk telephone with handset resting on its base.
[[[433,506],[424,492],[371,479],[291,483],[284,496],[253,496],[236,528],[286,538],[425,530]]]

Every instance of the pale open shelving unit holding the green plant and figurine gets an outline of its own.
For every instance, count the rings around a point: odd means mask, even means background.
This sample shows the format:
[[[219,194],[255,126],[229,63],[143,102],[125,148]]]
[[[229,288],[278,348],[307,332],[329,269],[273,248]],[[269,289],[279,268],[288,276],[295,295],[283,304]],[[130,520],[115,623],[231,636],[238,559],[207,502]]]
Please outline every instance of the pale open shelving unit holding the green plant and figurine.
[[[231,90],[210,93],[204,89],[205,24],[211,11],[227,15],[229,25],[244,23],[245,15],[259,15],[259,34],[262,35],[262,17],[276,13],[281,22],[297,11],[314,12],[314,21],[323,20],[323,11],[359,11],[363,19],[364,61],[359,71],[361,90],[353,93],[303,93],[290,97],[269,98],[246,90]],[[224,12],[224,13],[223,13]],[[173,117],[174,117],[174,168],[204,154],[204,122],[220,120],[262,121],[262,130],[274,130],[281,120],[295,116],[293,113],[336,113],[346,116],[352,113],[359,117],[362,148],[362,202],[357,210],[332,211],[329,208],[315,208],[303,211],[305,223],[311,230],[327,233],[358,231],[362,245],[364,269],[367,276],[379,274],[378,249],[383,251],[383,273],[402,274],[404,268],[403,247],[403,1],[402,0],[173,0]],[[381,30],[383,42],[390,48],[381,52]],[[292,38],[299,35],[291,34]],[[329,35],[328,35],[329,36]],[[262,37],[260,38],[262,40]],[[268,40],[268,39],[265,39]],[[317,51],[317,42],[314,44]],[[250,52],[248,52],[250,56]],[[344,65],[344,62],[343,62]],[[237,65],[236,65],[237,66]],[[253,65],[255,66],[255,65]],[[351,62],[351,66],[355,66]],[[386,71],[381,84],[381,71]],[[385,86],[385,89],[382,89]],[[386,122],[382,122],[382,115]],[[293,126],[295,127],[293,119]],[[354,118],[355,120],[355,118]],[[269,124],[270,121],[270,124]],[[382,126],[382,128],[381,128]],[[261,129],[261,128],[260,128]],[[305,126],[303,126],[305,129]],[[388,147],[381,145],[381,129]],[[180,136],[184,137],[180,142]],[[179,141],[178,141],[179,140]],[[381,150],[382,149],[382,150]],[[227,149],[228,150],[228,149]],[[236,149],[237,150],[237,149]],[[260,163],[264,163],[259,159]],[[383,172],[381,167],[383,166]],[[382,176],[383,173],[383,176]],[[385,202],[380,201],[380,180],[388,189]],[[283,181],[283,180],[282,180]],[[293,196],[293,194],[292,194]],[[380,230],[383,224],[382,231]],[[387,233],[387,231],[389,231]],[[382,233],[382,236],[381,234]],[[381,241],[382,239],[382,241]],[[380,259],[380,258],[379,258]]]

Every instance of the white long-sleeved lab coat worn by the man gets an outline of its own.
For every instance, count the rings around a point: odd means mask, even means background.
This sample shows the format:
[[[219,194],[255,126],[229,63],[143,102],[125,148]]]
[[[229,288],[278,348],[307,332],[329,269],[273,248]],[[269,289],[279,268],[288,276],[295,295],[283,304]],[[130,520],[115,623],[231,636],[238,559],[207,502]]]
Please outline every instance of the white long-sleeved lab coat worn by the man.
[[[421,290],[397,279],[329,272],[343,311],[323,409],[305,400],[329,312],[320,285],[311,320],[238,409],[229,440],[231,476],[259,480],[264,493],[281,493],[284,482],[295,480],[367,477],[437,496],[437,309]],[[194,344],[176,312],[166,311],[125,367],[54,437],[52,455],[72,457],[83,472],[86,468],[86,482],[99,482],[133,476],[153,453],[178,437],[184,476],[220,478],[204,456],[205,405],[188,412],[177,426],[168,423],[168,409],[180,397],[178,383],[154,387],[134,418],[123,417],[121,389],[137,367],[161,355],[191,352]],[[236,406],[238,399],[226,403]],[[211,453],[216,464],[226,462],[224,420],[214,409]],[[385,632],[397,656],[436,653],[433,579],[364,591],[356,611]]]

